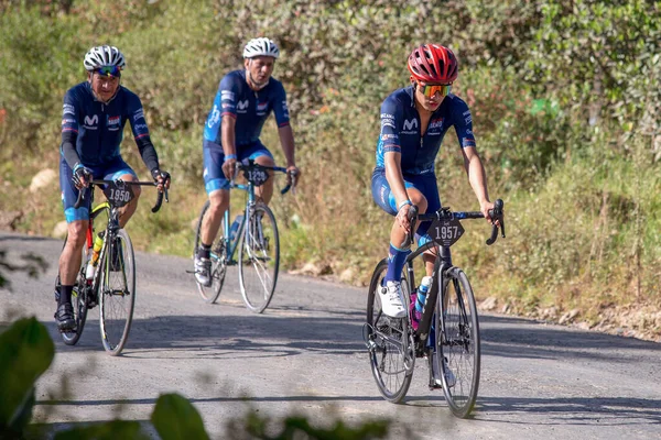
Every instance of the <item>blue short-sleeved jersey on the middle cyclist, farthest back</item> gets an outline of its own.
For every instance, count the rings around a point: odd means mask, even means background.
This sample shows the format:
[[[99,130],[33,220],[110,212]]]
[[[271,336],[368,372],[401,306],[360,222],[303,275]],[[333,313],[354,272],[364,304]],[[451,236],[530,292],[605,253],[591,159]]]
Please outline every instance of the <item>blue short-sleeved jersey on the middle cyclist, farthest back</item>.
[[[261,90],[252,90],[246,80],[246,70],[234,70],[220,80],[214,107],[204,127],[204,144],[221,146],[220,127],[224,116],[237,120],[235,143],[237,150],[259,142],[262,127],[271,110],[278,127],[289,125],[286,94],[282,82],[270,78]]]

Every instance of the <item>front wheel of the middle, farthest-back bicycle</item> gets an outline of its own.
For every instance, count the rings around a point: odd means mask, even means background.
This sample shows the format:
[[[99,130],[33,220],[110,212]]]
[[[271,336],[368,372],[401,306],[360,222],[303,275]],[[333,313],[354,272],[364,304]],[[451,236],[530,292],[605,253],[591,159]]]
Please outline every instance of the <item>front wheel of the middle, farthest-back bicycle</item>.
[[[239,246],[239,285],[249,310],[261,314],[273,298],[280,266],[278,224],[262,204],[250,209]]]

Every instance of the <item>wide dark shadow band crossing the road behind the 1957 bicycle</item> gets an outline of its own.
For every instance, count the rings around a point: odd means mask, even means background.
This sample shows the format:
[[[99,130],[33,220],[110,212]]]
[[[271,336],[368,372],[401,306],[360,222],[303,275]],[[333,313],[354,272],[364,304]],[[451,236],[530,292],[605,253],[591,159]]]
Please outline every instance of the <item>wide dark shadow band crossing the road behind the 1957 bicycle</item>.
[[[227,306],[225,306],[227,307]],[[259,355],[296,355],[305,351],[346,355],[366,353],[362,341],[362,314],[327,312],[312,316],[313,310],[299,307],[269,309],[264,315],[245,312],[223,316],[162,316],[133,319],[127,355],[156,351],[205,350],[204,355],[224,358],[229,351]],[[292,315],[301,314],[300,316]],[[88,319],[76,346],[65,348],[53,321],[44,322],[62,350],[100,350],[98,319]],[[614,359],[608,350],[636,352],[647,350],[661,362],[661,346],[655,342],[584,331],[570,327],[544,326],[540,322],[500,316],[480,317],[483,356],[511,359],[587,359],[609,362],[633,362],[627,356]],[[216,351],[216,354],[213,352]],[[625,352],[626,353],[626,352]],[[199,355],[199,354],[197,354]],[[197,356],[192,354],[193,358]],[[159,355],[161,356],[161,354]]]

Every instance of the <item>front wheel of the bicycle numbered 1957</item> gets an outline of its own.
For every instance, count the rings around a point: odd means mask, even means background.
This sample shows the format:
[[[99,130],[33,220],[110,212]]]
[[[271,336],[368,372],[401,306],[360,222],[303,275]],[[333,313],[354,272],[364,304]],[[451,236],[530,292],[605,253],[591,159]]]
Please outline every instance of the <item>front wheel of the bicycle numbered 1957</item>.
[[[438,338],[443,371],[443,393],[452,413],[466,418],[477,399],[480,370],[480,340],[477,306],[466,274],[456,267],[449,277],[444,296],[444,334]],[[448,372],[449,370],[449,372]],[[454,376],[454,384],[447,378]]]

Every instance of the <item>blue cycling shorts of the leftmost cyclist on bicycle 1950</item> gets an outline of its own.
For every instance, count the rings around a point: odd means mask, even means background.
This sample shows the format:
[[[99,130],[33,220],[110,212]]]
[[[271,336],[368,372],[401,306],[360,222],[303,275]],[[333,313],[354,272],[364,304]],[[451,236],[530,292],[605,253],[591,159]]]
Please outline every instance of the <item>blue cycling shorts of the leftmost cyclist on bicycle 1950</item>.
[[[87,168],[91,169],[91,176],[95,179],[116,180],[124,174],[130,174],[138,178],[133,169],[123,162],[121,156],[117,156],[106,164],[88,166]],[[89,220],[90,197],[86,195],[87,197],[85,197],[83,205],[78,209],[74,208],[78,199],[78,189],[74,185],[72,177],[73,170],[64,160],[64,156],[62,156],[59,158],[59,189],[62,190],[62,205],[67,223],[76,220]],[[89,193],[89,189],[87,191]]]

